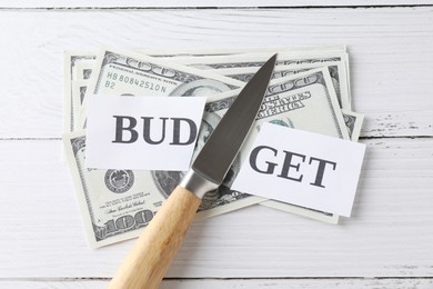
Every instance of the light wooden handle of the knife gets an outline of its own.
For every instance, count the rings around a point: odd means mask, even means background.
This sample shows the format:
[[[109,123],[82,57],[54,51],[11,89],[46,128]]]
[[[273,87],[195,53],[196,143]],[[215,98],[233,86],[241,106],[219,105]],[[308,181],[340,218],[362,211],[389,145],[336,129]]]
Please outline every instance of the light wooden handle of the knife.
[[[109,288],[158,288],[200,202],[200,198],[178,186],[141,233]]]

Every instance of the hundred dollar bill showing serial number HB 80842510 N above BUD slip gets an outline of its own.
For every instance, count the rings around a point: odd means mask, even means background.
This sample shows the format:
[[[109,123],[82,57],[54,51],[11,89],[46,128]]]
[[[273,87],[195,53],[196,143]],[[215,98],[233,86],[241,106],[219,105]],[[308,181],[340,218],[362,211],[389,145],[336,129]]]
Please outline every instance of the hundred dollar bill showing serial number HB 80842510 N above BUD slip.
[[[205,97],[244,86],[242,81],[119,49],[102,49],[85,99],[93,94]],[[85,124],[87,101],[81,108]]]

